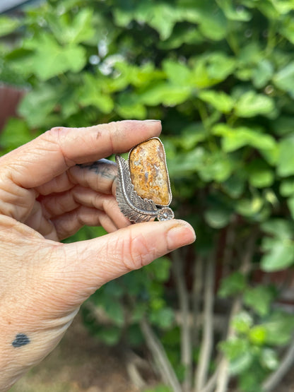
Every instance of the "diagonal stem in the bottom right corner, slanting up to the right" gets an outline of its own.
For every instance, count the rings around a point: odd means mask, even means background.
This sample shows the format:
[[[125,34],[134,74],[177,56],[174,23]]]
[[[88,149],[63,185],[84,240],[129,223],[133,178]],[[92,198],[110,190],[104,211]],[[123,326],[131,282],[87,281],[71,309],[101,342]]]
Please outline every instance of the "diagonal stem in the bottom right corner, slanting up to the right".
[[[283,360],[281,360],[280,366],[274,373],[272,373],[264,384],[262,385],[264,392],[277,391],[278,384],[280,384],[283,376],[290,370],[290,367],[293,366],[294,363],[294,337],[290,343],[290,347],[288,348]]]

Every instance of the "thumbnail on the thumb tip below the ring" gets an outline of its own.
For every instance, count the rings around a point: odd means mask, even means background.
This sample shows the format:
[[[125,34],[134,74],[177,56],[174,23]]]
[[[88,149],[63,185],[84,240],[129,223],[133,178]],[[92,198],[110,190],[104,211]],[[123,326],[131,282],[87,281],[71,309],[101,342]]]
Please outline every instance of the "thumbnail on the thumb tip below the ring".
[[[184,220],[177,220],[177,225],[172,226],[167,232],[167,246],[170,250],[192,244],[195,239],[193,227]]]

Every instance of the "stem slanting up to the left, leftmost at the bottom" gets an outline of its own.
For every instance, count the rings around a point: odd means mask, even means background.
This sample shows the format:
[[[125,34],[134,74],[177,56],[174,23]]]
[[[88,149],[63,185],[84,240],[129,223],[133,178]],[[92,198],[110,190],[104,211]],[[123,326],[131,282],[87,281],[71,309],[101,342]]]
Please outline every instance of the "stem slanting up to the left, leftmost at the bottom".
[[[172,369],[172,365],[167,358],[165,349],[153,332],[148,321],[146,319],[142,319],[140,321],[140,327],[146,340],[146,344],[153,355],[153,360],[158,364],[158,372],[160,373],[163,381],[172,388],[173,392],[182,392],[182,388],[175,371]]]

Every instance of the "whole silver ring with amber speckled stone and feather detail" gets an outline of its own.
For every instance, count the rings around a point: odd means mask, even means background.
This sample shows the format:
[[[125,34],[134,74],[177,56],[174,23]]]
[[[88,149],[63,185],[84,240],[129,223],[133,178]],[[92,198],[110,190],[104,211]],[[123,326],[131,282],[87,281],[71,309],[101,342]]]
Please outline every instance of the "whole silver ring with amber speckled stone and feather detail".
[[[165,148],[159,138],[143,141],[129,151],[129,159],[116,155],[117,203],[131,222],[170,220],[172,201]]]

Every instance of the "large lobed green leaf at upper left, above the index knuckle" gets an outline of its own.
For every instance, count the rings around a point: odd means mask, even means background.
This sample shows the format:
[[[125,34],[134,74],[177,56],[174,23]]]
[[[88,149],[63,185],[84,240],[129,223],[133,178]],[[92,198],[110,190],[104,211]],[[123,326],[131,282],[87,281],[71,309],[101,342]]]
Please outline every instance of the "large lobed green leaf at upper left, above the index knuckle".
[[[64,47],[48,34],[41,35],[34,42],[35,53],[32,55],[31,71],[41,81],[47,81],[66,71],[81,71],[86,64],[86,50],[76,44]]]

